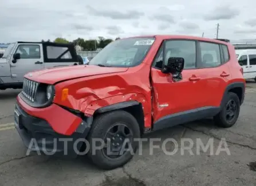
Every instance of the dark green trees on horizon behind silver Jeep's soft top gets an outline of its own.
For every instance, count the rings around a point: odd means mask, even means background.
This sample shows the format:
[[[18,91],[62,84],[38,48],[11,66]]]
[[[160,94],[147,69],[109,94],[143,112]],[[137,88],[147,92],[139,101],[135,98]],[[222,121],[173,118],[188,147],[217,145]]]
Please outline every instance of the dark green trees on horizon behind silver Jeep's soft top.
[[[120,39],[117,37],[115,40]],[[44,41],[44,40],[42,40]],[[48,41],[50,41],[48,39]],[[109,43],[111,43],[113,39],[108,39],[104,37],[99,37],[98,39],[84,39],[84,38],[77,38],[73,41],[68,41],[65,38],[58,37],[54,39],[53,42],[56,43],[73,43],[74,45],[79,45],[82,47],[82,50],[85,51],[94,51],[97,49],[103,49],[105,46],[107,46]]]

